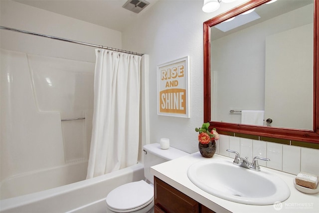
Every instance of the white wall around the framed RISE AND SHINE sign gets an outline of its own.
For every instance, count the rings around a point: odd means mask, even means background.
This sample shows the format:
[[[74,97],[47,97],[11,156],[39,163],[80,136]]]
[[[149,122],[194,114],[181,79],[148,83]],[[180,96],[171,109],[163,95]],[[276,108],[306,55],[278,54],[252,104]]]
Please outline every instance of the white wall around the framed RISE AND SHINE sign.
[[[123,48],[150,55],[151,143],[169,138],[170,145],[198,151],[195,127],[203,123],[203,22],[245,0],[221,3],[205,13],[203,0],[159,0],[122,34]],[[190,56],[190,118],[157,115],[157,65]]]

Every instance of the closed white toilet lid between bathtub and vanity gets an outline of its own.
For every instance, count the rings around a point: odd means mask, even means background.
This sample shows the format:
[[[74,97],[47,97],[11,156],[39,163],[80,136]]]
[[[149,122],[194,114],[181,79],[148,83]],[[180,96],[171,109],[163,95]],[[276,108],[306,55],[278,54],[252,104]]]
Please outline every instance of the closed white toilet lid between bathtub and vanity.
[[[154,188],[145,181],[138,181],[112,190],[106,197],[106,203],[114,210],[138,210],[152,203],[153,198]]]

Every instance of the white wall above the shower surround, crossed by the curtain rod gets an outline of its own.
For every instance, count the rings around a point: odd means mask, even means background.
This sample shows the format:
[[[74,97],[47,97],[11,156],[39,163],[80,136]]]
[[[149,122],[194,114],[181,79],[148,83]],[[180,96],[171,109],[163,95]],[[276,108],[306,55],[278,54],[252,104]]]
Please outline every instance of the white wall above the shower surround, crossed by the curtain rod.
[[[0,1],[0,24],[87,43],[122,48],[122,33],[10,0]],[[1,48],[95,62],[94,47],[0,30]]]

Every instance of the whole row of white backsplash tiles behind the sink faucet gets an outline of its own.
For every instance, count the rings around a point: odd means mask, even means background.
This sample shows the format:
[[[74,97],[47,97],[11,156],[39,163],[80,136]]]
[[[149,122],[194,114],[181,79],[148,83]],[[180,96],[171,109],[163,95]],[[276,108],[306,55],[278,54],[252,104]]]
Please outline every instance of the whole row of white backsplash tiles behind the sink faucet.
[[[248,157],[252,162],[253,157],[269,158],[270,161],[258,161],[260,166],[297,175],[306,172],[319,176],[319,150],[274,142],[259,141],[220,135],[216,141],[216,154],[234,158],[233,153],[226,149],[239,152],[241,157]]]

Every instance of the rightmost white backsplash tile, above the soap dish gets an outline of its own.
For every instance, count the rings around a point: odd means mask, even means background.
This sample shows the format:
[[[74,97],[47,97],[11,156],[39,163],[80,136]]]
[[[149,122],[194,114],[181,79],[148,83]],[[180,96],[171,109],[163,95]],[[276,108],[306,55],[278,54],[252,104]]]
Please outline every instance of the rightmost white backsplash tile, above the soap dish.
[[[301,148],[301,172],[319,176],[319,150]]]

